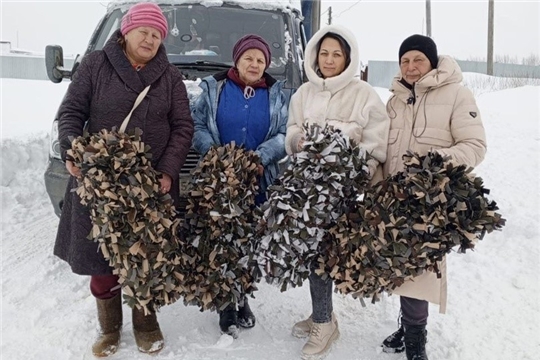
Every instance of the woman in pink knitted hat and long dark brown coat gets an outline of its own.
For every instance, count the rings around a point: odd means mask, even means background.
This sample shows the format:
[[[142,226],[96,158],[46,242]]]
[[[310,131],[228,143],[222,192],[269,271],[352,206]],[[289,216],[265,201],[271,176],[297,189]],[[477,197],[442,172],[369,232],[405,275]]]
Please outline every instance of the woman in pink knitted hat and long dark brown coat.
[[[153,3],[139,3],[122,19],[100,51],[82,60],[59,110],[59,140],[62,158],[72,175],[66,191],[54,254],[65,260],[74,273],[90,275],[90,290],[96,297],[100,336],[92,348],[94,355],[113,354],[120,341],[122,301],[118,277],[104,259],[98,244],[87,239],[92,227],[89,211],[71,190],[77,186],[80,169],[66,157],[70,137],[101,129],[119,128],[135,99],[150,85],[148,94],[131,116],[128,125],[143,131],[143,141],[151,147],[152,165],[163,174],[162,192],[178,203],[178,176],[191,146],[193,121],[182,75],[169,64],[163,39],[167,20]],[[133,310],[133,329],[142,352],[163,347],[163,335],[155,313],[144,316]]]

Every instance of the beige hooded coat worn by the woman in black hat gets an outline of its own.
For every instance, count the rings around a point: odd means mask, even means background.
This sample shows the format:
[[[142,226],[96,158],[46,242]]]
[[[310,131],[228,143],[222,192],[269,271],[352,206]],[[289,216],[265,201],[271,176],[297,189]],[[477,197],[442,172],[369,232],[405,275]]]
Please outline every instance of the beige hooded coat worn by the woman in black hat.
[[[384,176],[403,169],[402,155],[412,150],[421,155],[437,150],[452,160],[477,166],[486,153],[486,136],[480,112],[469,89],[461,85],[459,65],[439,56],[437,69],[424,75],[414,87],[416,102],[408,104],[411,90],[394,78],[386,109],[390,117]],[[446,260],[440,264],[442,278],[427,272],[397,288],[394,293],[439,304],[446,310]]]

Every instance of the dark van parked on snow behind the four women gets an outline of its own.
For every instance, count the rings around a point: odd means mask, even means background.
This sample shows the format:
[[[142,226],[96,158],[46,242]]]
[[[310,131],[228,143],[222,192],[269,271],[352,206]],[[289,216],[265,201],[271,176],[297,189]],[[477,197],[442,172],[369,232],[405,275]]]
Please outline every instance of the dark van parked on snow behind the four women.
[[[103,48],[120,27],[122,16],[134,1],[111,2],[107,13],[97,24],[82,56]],[[319,27],[320,3],[316,1],[222,1],[200,4],[197,1],[163,1],[158,5],[169,23],[164,41],[169,61],[176,65],[186,82],[190,103],[196,99],[198,79],[228,69],[233,65],[232,48],[245,34],[262,36],[272,47],[268,72],[286,80],[286,91],[294,92],[303,82],[303,53],[307,39]],[[302,15],[302,10],[304,14]],[[309,33],[304,30],[304,23]],[[51,81],[71,79],[82,57],[75,59],[72,69],[63,67],[62,47],[46,48],[47,74]],[[191,151],[180,172],[180,195],[185,198],[185,185],[199,155]],[[45,185],[55,213],[60,216],[69,174],[60,159],[58,114],[53,122],[49,163]],[[178,210],[182,212],[182,204]]]

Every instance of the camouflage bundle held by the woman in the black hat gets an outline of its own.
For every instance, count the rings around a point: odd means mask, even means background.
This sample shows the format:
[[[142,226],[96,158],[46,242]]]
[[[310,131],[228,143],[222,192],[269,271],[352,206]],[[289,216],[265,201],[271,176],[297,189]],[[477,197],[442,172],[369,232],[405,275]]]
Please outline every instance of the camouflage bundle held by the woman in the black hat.
[[[425,271],[440,276],[437,262],[446,254],[474,249],[505,225],[471,168],[435,152],[404,159],[402,172],[368,189],[330,229],[329,260],[319,259],[317,272],[329,273],[336,291],[375,302]]]

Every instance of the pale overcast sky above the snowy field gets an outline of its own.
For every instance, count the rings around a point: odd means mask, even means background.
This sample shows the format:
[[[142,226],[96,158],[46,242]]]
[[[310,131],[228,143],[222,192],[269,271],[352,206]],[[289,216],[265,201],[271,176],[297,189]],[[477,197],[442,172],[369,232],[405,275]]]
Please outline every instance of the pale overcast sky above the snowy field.
[[[13,47],[43,52],[59,44],[65,54],[81,53],[106,1],[1,0],[1,40]],[[399,45],[408,35],[426,32],[425,1],[323,1],[321,23],[350,28],[357,36],[360,56],[367,60],[397,60]],[[487,54],[488,0],[431,1],[432,37],[440,54],[462,60]],[[495,0],[495,54],[521,60],[540,56],[540,0]]]

